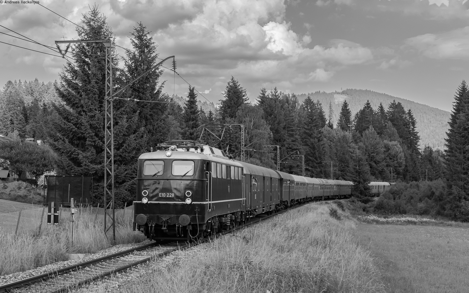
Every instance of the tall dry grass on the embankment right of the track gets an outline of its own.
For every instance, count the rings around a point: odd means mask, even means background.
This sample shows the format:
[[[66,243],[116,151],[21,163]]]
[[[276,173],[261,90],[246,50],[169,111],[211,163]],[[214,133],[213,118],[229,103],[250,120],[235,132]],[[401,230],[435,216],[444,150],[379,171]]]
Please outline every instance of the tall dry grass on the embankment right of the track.
[[[120,290],[153,292],[384,292],[368,251],[356,245],[354,221],[329,216],[333,204],[310,204],[215,240]]]

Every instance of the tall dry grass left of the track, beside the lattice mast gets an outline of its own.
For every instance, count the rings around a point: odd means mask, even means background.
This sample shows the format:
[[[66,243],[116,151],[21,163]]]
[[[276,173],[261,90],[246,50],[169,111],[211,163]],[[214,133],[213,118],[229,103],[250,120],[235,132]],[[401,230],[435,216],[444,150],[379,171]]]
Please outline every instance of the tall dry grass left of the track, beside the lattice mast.
[[[82,209],[76,215],[73,245],[71,216],[62,216],[60,225],[43,225],[40,234],[36,231],[26,233],[26,230],[15,237],[15,234],[0,229],[0,275],[68,260],[71,253],[95,253],[112,246],[103,233],[102,220],[97,220],[95,212]],[[132,231],[130,222],[116,222],[116,244],[143,240],[142,234]]]

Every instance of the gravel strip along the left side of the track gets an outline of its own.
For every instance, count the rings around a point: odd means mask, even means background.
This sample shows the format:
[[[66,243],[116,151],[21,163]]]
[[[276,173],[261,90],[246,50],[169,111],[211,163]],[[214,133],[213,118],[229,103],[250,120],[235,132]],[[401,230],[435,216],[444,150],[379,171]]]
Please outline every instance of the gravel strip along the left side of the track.
[[[98,251],[97,253],[87,255],[83,258],[78,258],[78,259],[68,260],[68,261],[62,261],[62,262],[57,262],[57,263],[51,263],[51,264],[48,264],[48,265],[45,265],[43,267],[39,267],[39,268],[36,268],[36,269],[15,272],[15,273],[12,273],[12,274],[9,274],[9,275],[3,275],[3,276],[0,276],[0,285],[13,283],[13,282],[16,282],[16,281],[23,280],[25,278],[34,277],[34,276],[44,274],[46,272],[50,272],[50,271],[53,271],[53,270],[60,270],[60,269],[66,268],[66,267],[71,266],[71,265],[75,265],[75,264],[78,264],[78,263],[84,263],[84,262],[87,262],[87,261],[90,261],[90,260],[93,260],[93,259],[97,259],[99,257],[103,257],[103,256],[106,256],[106,255],[112,255],[114,253],[118,253],[118,252],[130,249],[130,248],[136,248],[138,246],[142,246],[142,245],[145,245],[145,244],[148,244],[148,243],[151,243],[151,241],[150,240],[145,240],[145,241],[140,242],[140,243],[119,244],[119,245],[113,246],[111,248],[107,248],[107,249]]]

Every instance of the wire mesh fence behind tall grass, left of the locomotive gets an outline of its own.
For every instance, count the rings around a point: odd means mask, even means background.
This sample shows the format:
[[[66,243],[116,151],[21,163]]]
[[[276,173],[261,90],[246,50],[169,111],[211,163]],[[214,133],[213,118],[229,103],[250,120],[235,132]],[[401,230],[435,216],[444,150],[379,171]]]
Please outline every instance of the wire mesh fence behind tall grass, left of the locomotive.
[[[114,220],[116,225],[131,224],[134,220],[133,208],[133,206],[129,206],[125,209],[115,210]],[[112,211],[108,210],[109,212]],[[88,220],[90,217],[94,217],[91,220],[94,220],[95,223],[104,223],[105,210],[103,208],[77,207],[75,214],[76,225],[80,225],[80,218],[82,217],[87,217]],[[58,226],[58,229],[66,229],[71,220],[70,208],[59,208],[59,225],[49,226]],[[110,218],[107,217],[108,225],[109,221]],[[40,234],[41,229],[44,229],[45,226],[47,226],[47,207],[0,214],[0,233]]]

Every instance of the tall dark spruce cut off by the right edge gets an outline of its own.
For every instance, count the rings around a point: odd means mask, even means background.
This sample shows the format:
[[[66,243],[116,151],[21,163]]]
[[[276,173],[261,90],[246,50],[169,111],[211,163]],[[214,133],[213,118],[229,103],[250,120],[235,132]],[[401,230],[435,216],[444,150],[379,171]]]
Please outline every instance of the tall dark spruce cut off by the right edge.
[[[455,200],[469,200],[469,89],[465,81],[454,95],[446,132],[447,179]]]

